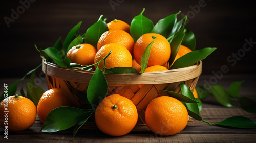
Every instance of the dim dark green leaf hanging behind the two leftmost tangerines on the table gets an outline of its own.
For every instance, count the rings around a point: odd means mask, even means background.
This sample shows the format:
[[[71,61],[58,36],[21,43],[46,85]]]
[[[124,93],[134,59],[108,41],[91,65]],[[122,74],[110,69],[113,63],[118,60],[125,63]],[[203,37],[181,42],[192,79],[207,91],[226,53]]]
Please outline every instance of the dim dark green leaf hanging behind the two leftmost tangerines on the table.
[[[44,89],[35,84],[35,73],[36,70],[31,74],[30,80],[26,84],[26,89],[28,99],[30,99],[35,104],[35,106],[37,106],[42,94],[44,93]]]

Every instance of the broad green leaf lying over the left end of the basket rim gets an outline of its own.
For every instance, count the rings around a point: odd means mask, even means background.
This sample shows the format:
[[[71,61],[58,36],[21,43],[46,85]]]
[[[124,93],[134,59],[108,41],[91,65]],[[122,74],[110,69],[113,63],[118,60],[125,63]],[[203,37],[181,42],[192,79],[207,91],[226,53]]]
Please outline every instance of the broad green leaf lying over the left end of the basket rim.
[[[53,47],[48,47],[48,48],[46,48],[46,49],[44,49],[42,51],[45,52],[59,66],[67,67],[65,62],[62,61],[61,53],[57,49],[55,49]]]

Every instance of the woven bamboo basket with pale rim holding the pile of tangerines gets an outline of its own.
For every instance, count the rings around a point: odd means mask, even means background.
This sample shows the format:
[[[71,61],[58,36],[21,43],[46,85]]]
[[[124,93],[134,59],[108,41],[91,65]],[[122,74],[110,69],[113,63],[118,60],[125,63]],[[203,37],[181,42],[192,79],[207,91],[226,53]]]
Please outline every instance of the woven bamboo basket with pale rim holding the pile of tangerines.
[[[61,88],[66,98],[74,107],[83,103],[77,98],[73,89],[87,92],[87,87],[94,71],[63,68],[56,64],[42,61],[42,71],[46,74],[48,89]],[[149,130],[145,125],[145,109],[156,97],[166,95],[161,89],[181,93],[179,84],[185,83],[190,90],[194,90],[202,72],[202,61],[193,66],[159,71],[157,73],[104,74],[108,81],[108,95],[118,93],[129,98],[137,107],[138,122],[133,131]],[[140,88],[141,87],[141,88]],[[86,129],[97,129],[93,122],[83,126]]]

